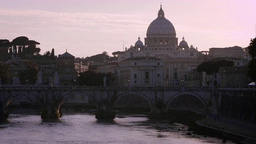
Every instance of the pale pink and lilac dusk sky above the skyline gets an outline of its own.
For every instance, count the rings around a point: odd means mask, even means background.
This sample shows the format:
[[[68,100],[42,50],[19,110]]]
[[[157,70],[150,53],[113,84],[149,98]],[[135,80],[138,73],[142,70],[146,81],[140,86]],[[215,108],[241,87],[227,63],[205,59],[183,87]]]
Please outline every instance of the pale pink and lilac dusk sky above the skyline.
[[[256,36],[256,0],[0,0],[0,39],[19,36],[87,57],[144,43],[160,5],[176,30],[198,51],[247,47]]]

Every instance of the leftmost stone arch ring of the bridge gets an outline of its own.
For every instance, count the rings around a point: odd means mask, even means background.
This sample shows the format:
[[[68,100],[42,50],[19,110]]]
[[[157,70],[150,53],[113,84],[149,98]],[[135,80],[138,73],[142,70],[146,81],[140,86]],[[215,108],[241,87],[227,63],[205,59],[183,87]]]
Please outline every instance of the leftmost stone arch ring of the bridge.
[[[39,99],[38,99],[38,95],[34,94],[34,92],[11,92],[11,94],[6,98],[6,100],[3,102],[2,105],[2,112],[4,112],[4,114],[6,114],[7,112],[7,108],[10,104],[10,102],[17,96],[32,96],[32,98],[34,98],[34,100],[36,100],[40,106],[42,107],[42,104],[40,103]],[[30,99],[30,98],[29,98]]]

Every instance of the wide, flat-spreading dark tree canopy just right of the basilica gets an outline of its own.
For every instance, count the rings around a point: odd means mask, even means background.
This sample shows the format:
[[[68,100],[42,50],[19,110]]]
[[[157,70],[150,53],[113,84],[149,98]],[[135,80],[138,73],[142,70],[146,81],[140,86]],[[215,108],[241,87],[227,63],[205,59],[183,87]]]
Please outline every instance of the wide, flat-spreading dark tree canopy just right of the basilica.
[[[209,60],[200,64],[196,70],[198,72],[206,72],[207,75],[212,75],[219,72],[219,67],[233,66],[234,62],[231,60]]]

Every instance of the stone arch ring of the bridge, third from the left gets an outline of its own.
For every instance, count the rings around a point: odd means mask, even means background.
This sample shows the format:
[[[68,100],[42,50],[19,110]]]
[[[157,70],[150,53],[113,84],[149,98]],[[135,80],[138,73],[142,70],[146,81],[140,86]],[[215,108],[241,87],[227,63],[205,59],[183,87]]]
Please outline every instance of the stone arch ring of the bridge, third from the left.
[[[114,106],[115,106],[116,102],[118,102],[118,100],[120,100],[122,97],[128,96],[128,95],[136,95],[136,96],[140,96],[140,97],[144,98],[144,100],[146,100],[150,106],[150,112],[152,112],[154,110],[154,102],[152,102],[152,100],[150,100],[150,98],[148,98],[148,96],[146,96],[145,94],[142,94],[140,92],[123,92],[121,94],[118,94],[116,100],[114,100],[114,102],[113,102],[112,109],[114,108]]]

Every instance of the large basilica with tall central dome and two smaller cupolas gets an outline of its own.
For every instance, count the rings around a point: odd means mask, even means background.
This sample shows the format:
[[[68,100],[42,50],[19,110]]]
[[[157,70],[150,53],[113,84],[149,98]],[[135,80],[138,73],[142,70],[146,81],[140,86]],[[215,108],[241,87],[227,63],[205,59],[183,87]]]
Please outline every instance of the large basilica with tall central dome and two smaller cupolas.
[[[148,26],[144,44],[140,37],[138,37],[138,41],[134,46],[128,49],[126,48],[124,54],[118,55],[118,60],[122,62],[122,60],[137,57],[154,57],[160,59],[163,62],[160,72],[162,85],[179,86],[182,80],[193,78],[191,71],[202,62],[198,54],[200,55],[202,53],[198,52],[197,48],[194,48],[194,46],[188,46],[184,37],[182,41],[178,43],[175,28],[173,24],[165,18],[164,10],[162,10],[161,5],[158,11],[158,17]],[[147,71],[141,68],[137,71],[141,71],[141,76],[146,76]],[[160,77],[158,77],[158,79]],[[157,81],[159,80],[152,80],[152,82]]]

